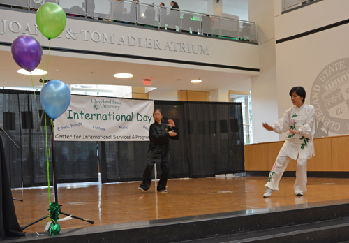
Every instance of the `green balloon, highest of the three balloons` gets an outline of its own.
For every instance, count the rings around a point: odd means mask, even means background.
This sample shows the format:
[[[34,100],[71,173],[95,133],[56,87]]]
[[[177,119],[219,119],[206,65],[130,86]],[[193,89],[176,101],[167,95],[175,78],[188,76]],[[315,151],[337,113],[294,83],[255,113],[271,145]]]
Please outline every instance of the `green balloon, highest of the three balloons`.
[[[59,36],[66,27],[66,13],[56,3],[45,3],[36,12],[36,24],[49,40]]]

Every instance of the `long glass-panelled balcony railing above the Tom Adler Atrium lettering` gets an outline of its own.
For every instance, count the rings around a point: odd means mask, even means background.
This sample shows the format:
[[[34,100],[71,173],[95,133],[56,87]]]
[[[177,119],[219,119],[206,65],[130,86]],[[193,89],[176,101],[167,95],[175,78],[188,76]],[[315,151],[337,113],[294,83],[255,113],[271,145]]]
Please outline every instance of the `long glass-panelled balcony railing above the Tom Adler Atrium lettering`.
[[[135,1],[0,0],[0,5],[36,10],[45,2],[59,4],[70,16],[257,42],[254,22]]]

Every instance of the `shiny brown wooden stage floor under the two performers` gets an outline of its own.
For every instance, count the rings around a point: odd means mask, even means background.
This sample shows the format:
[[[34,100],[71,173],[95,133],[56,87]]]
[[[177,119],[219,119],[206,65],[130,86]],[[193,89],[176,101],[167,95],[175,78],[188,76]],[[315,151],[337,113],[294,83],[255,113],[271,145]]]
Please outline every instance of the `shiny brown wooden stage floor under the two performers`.
[[[295,196],[295,177],[283,177],[276,191],[263,198],[267,177],[214,177],[204,179],[170,179],[168,193],[158,193],[154,182],[149,191],[138,190],[140,182],[114,184],[59,184],[61,210],[95,221],[72,219],[59,223],[61,229],[135,223],[154,219],[216,214],[240,210],[327,202],[349,198],[349,179],[308,178],[308,191]],[[49,214],[47,187],[13,189],[17,219],[25,226]],[[51,190],[51,200],[54,200]],[[60,219],[64,215],[60,215]],[[47,219],[29,226],[27,233],[43,232]]]

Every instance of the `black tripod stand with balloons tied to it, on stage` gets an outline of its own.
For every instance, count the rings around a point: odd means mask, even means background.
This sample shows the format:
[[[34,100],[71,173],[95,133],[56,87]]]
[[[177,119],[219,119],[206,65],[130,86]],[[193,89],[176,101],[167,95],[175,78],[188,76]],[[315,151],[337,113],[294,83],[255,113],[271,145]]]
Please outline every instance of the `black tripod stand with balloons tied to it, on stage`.
[[[43,115],[44,114],[45,114],[45,112],[41,113],[40,123],[41,123],[41,120],[43,119]],[[54,124],[53,123],[54,123],[54,119],[52,119],[52,138],[51,138],[51,142],[52,142],[52,165],[53,165],[52,166],[52,172],[53,172],[53,179],[52,179],[52,181],[53,181],[53,186],[54,186],[54,202],[57,202],[57,204],[59,204],[58,203],[58,196],[57,196],[57,182],[56,182],[56,161],[54,161],[54,133],[53,133]],[[59,206],[61,206],[61,205],[59,205]],[[94,224],[94,221],[92,221],[92,220],[82,219],[82,218],[80,218],[78,216],[74,216],[72,214],[67,214],[65,212],[62,212],[61,211],[61,207],[59,207],[59,214],[64,214],[66,216],[71,216],[74,219],[80,219],[82,221],[86,221],[86,222],[89,222],[91,224]],[[43,216],[42,218],[40,218],[40,219],[38,219],[38,220],[36,220],[36,221],[34,221],[32,223],[29,223],[27,226],[22,226],[21,229],[24,230],[25,228],[27,228],[29,226],[32,226],[34,223],[38,223],[38,222],[46,219],[49,216],[50,216],[50,214],[47,214],[46,216]]]

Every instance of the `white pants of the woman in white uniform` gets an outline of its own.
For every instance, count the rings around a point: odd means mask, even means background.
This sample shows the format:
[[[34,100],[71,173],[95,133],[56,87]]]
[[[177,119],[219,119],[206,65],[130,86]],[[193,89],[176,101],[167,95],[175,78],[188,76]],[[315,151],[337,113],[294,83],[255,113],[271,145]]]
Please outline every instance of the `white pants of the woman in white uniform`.
[[[279,182],[285,172],[288,163],[290,163],[291,158],[288,156],[278,156],[269,173],[269,179],[266,187],[274,191],[279,190]],[[296,170],[296,181],[293,185],[295,193],[305,193],[306,192],[306,161],[307,159],[297,159],[297,170]]]

